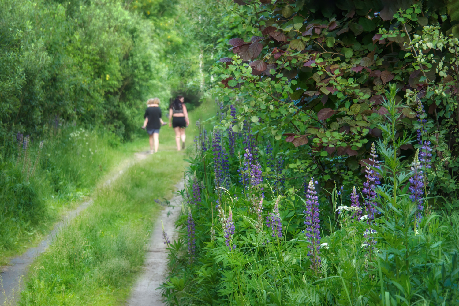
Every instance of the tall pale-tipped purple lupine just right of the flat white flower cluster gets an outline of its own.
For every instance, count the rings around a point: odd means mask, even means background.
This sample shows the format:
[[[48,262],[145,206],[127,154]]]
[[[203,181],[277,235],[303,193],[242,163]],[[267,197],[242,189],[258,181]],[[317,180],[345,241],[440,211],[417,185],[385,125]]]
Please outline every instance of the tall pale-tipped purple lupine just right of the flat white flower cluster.
[[[370,158],[369,158],[369,165],[373,166],[375,168],[380,168],[378,166],[379,161],[376,159],[378,155],[376,155],[376,148],[375,148],[375,143],[373,142],[371,144],[371,150],[370,150]],[[375,172],[373,169],[371,169],[368,165],[365,167],[365,178],[367,178],[367,181],[364,182],[364,188],[362,190],[362,193],[365,195],[364,199],[364,204],[365,204],[365,210],[366,210],[366,215],[368,217],[367,223],[371,223],[371,220],[375,219],[375,213],[376,213],[376,208],[375,208],[375,198],[376,198],[376,185],[381,184],[379,181],[378,172]]]

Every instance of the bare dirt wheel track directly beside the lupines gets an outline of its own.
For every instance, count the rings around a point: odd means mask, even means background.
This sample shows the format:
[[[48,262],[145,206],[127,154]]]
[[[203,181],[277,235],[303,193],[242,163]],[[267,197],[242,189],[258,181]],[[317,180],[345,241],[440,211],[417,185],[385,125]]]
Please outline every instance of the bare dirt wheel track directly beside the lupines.
[[[184,181],[177,184],[177,190],[184,189]],[[151,234],[148,253],[144,263],[145,271],[137,280],[137,283],[132,289],[131,298],[127,301],[128,306],[162,306],[166,305],[162,302],[161,290],[157,290],[160,284],[164,281],[167,273],[167,255],[166,245],[162,239],[161,221],[164,223],[164,229],[168,233],[169,239],[175,236],[175,220],[179,217],[181,210],[181,196],[174,196],[171,200],[171,206],[166,207],[161,216],[155,222],[153,232]],[[168,217],[168,211],[172,214]]]

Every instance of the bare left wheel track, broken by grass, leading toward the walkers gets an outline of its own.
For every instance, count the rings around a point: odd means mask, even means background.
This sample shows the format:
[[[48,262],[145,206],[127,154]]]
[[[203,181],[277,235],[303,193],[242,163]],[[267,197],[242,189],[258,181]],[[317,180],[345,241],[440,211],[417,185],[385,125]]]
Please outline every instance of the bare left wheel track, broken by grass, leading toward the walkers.
[[[134,163],[141,161],[149,156],[147,153],[134,153],[134,158],[126,159],[121,162],[112,172],[106,176],[106,181],[103,185],[110,185],[115,181],[126,169],[134,165]],[[0,273],[0,305],[11,305],[11,300],[15,300],[15,293],[22,287],[23,278],[27,273],[29,265],[34,261],[35,257],[45,252],[48,246],[52,243],[53,238],[59,233],[59,231],[67,225],[69,221],[72,221],[82,211],[88,208],[92,204],[92,200],[83,202],[80,206],[75,208],[73,211],[69,211],[62,219],[61,222],[57,223],[53,230],[43,239],[38,246],[29,248],[21,256],[17,256],[11,259],[9,266],[1,266],[3,273]],[[2,289],[3,287],[3,289]],[[23,287],[22,287],[23,289]]]

